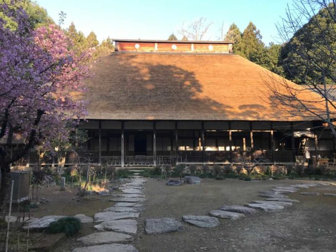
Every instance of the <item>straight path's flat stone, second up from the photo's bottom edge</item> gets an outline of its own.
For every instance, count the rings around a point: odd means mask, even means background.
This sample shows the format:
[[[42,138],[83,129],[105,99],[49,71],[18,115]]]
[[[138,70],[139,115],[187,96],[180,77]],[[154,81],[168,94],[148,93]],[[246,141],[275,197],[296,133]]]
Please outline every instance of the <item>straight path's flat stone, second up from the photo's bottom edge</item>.
[[[134,240],[129,234],[116,232],[98,232],[88,234],[77,239],[84,246],[111,244],[111,243],[130,243]]]

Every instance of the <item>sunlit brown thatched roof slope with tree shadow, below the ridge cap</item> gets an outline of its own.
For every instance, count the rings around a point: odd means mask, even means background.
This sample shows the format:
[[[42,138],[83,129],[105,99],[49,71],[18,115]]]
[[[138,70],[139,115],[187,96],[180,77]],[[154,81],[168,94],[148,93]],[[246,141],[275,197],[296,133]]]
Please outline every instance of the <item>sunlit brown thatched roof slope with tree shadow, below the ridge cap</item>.
[[[307,120],[272,105],[264,93],[272,73],[239,55],[119,52],[92,71],[88,91],[74,94],[90,102],[87,119]]]

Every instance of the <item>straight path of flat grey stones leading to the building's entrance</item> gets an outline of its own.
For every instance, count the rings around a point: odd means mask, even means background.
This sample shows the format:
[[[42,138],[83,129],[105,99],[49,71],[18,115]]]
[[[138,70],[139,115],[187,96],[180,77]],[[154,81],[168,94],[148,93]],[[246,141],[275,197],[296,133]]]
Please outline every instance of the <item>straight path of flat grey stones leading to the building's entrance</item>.
[[[94,226],[98,232],[78,238],[82,247],[75,248],[73,252],[137,252],[130,243],[137,232],[147,180],[138,176],[139,170],[132,172],[131,179],[119,186],[122,193],[111,196],[109,201],[115,203],[94,215],[94,222],[100,222]]]

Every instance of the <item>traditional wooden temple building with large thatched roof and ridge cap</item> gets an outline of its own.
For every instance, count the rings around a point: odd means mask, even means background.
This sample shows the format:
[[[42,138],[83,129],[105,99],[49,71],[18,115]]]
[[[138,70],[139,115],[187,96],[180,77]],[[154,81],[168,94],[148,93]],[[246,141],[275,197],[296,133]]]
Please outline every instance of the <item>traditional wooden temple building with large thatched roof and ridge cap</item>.
[[[93,64],[88,91],[74,94],[89,102],[80,127],[92,163],[287,164],[304,162],[304,150],[314,160],[335,151],[320,121],[272,103],[265,82],[281,77],[232,54],[232,42],[114,42],[115,52]]]

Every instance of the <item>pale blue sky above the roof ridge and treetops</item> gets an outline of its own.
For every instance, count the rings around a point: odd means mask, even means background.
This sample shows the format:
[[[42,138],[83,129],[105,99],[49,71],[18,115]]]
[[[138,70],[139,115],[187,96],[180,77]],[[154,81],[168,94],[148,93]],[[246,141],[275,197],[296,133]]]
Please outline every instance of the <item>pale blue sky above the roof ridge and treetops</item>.
[[[58,13],[71,21],[77,30],[88,35],[93,31],[99,41],[111,38],[167,39],[183,23],[206,17],[214,24],[205,39],[218,40],[224,21],[225,31],[236,23],[243,32],[249,21],[261,31],[263,42],[279,41],[275,24],[284,17],[292,0],[37,0],[49,16],[58,22]]]

